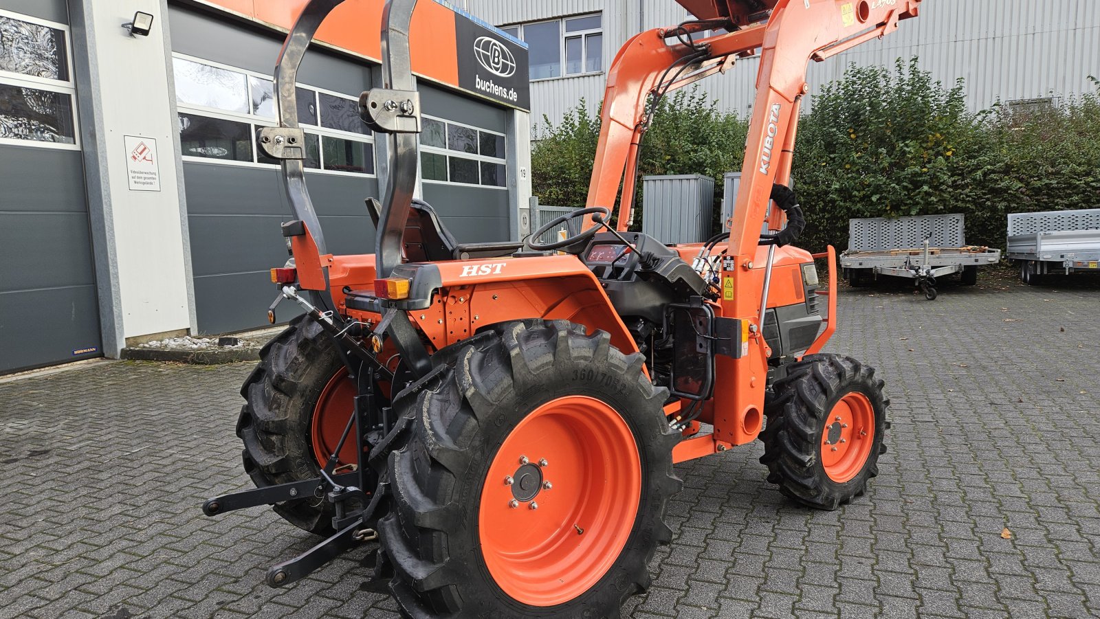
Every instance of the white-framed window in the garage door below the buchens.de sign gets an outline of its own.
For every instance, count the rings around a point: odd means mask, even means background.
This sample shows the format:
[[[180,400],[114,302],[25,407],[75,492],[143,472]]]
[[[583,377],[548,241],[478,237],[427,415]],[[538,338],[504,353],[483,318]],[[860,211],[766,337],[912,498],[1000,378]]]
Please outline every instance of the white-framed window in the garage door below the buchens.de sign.
[[[420,178],[432,183],[506,187],[504,134],[424,117]]]

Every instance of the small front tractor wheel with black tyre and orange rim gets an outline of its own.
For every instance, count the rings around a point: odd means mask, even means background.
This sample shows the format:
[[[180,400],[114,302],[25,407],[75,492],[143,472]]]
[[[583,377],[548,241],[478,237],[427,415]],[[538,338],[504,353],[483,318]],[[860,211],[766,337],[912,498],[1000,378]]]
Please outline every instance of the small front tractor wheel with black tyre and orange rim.
[[[836,354],[807,355],[776,382],[765,409],[768,482],[794,500],[836,509],[878,475],[890,400],[875,368]]]

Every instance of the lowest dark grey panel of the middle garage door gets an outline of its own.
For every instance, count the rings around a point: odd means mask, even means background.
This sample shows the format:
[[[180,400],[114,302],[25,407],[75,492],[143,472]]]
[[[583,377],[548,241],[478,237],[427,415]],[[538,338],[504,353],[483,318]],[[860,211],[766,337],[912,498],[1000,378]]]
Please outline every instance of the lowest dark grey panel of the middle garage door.
[[[267,307],[277,290],[268,272],[195,278],[195,311],[202,333],[229,333],[267,324]],[[290,301],[276,310],[279,322],[301,313]]]

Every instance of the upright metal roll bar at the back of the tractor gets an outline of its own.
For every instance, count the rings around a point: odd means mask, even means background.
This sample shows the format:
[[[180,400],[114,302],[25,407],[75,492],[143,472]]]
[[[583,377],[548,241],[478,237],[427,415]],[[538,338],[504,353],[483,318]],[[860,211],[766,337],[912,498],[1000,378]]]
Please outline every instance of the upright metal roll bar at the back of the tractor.
[[[283,186],[295,218],[300,220],[317,245],[328,254],[321,222],[306,187],[305,133],[298,125],[295,82],[306,49],[324,19],[343,0],[310,0],[287,34],[275,65],[278,126],[260,130],[260,147],[279,159]],[[417,0],[387,0],[382,14],[382,88],[360,97],[360,117],[376,132],[391,134],[387,148],[388,174],[378,230],[375,236],[375,268],[386,277],[402,262],[402,236],[416,187],[416,134],[420,132],[420,99],[413,78],[409,56],[409,24]],[[322,269],[327,269],[323,266]],[[326,273],[326,280],[328,279]]]

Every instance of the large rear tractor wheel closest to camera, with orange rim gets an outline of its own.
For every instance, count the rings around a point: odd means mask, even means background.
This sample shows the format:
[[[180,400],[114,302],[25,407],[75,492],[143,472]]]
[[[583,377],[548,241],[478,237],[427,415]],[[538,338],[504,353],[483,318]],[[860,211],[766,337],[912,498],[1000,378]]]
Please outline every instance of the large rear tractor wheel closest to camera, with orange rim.
[[[565,321],[468,346],[410,402],[378,526],[410,617],[617,617],[671,531],[679,435],[642,357]]]

